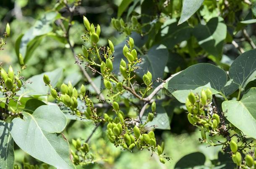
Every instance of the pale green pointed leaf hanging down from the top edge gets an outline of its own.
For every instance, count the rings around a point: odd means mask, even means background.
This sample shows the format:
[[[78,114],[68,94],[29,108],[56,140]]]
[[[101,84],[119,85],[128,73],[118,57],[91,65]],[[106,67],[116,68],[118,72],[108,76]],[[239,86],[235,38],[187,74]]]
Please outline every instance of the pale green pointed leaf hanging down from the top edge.
[[[179,24],[188,20],[201,7],[204,0],[183,0]]]

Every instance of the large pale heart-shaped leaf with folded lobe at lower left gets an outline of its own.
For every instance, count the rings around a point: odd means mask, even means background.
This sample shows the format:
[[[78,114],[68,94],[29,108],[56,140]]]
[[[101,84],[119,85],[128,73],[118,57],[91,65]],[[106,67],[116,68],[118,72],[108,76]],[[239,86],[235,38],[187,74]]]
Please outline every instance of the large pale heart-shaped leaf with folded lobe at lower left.
[[[12,121],[11,136],[15,143],[40,161],[60,169],[75,168],[70,159],[69,144],[63,134],[66,116],[58,106],[43,105],[33,114]]]

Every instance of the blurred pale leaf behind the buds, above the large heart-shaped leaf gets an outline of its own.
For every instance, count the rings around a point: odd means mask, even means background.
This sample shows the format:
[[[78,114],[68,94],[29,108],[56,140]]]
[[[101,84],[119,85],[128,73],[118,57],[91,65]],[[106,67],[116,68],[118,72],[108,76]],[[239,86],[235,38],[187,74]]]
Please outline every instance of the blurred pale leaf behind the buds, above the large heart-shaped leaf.
[[[58,80],[62,76],[63,69],[58,68],[51,72],[45,72],[39,75],[32,76],[25,83],[25,88],[23,88],[20,93],[26,93],[26,95],[46,95],[50,93],[50,87],[45,86],[43,81],[43,76],[46,74],[50,78],[50,83],[53,88],[57,85]]]

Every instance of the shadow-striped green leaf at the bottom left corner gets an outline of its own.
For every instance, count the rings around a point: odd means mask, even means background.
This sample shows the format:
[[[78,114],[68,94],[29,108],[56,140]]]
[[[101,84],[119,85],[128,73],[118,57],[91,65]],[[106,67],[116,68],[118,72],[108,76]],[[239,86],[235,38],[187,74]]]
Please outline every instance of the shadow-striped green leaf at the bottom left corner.
[[[13,169],[14,150],[10,129],[10,124],[0,121],[0,169]]]

